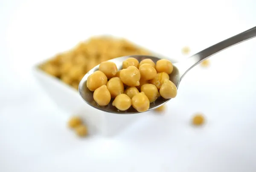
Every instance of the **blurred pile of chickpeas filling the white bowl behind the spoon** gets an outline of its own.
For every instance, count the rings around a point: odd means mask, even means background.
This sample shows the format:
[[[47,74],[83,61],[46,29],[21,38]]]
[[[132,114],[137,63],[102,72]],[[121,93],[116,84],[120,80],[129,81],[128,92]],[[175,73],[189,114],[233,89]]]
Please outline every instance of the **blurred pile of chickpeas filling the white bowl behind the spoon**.
[[[99,63],[126,55],[150,55],[151,53],[122,38],[92,37],[75,48],[57,54],[40,66],[49,75],[78,89],[82,77]]]

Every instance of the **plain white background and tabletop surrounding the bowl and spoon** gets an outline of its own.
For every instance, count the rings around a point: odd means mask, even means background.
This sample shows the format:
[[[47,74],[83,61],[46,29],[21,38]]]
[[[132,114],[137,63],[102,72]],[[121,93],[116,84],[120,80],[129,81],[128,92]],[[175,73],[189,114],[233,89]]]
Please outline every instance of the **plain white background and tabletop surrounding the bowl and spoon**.
[[[0,171],[254,172],[255,39],[211,57],[209,69],[192,69],[165,115],[108,139],[76,138],[31,67],[103,33],[168,56],[185,45],[195,53],[255,26],[255,16],[253,0],[1,1]],[[198,111],[207,123],[194,128]]]

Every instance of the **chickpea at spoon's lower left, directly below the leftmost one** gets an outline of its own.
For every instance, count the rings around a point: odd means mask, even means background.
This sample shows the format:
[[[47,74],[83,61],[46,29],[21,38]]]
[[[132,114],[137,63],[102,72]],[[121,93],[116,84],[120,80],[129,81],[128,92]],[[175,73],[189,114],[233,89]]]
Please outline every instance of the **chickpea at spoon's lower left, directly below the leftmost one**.
[[[100,86],[93,92],[93,99],[99,106],[107,106],[111,100],[111,94],[106,85]]]

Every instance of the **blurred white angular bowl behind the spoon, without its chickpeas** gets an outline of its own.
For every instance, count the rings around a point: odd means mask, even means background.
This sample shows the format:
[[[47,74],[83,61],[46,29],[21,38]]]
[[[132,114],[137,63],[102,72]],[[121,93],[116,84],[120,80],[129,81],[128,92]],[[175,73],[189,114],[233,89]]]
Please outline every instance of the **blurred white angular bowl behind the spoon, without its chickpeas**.
[[[166,58],[163,55],[151,53],[157,57]],[[118,115],[94,109],[82,100],[76,89],[42,71],[39,68],[40,64],[33,68],[35,78],[61,109],[64,109],[70,116],[79,115],[85,121],[90,134],[114,135],[137,118],[154,112]]]

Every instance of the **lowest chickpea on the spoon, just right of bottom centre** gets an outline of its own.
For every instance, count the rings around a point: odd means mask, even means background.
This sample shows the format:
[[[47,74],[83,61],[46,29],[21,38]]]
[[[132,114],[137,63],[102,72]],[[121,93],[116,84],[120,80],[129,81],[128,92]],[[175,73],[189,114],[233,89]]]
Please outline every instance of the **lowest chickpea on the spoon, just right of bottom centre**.
[[[149,100],[144,92],[134,95],[131,99],[131,104],[138,112],[145,112],[149,109]]]

